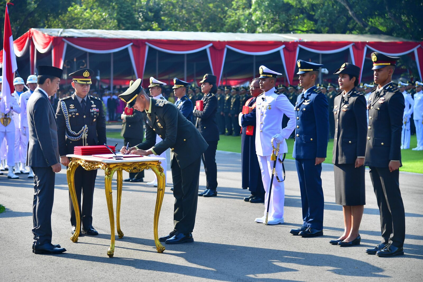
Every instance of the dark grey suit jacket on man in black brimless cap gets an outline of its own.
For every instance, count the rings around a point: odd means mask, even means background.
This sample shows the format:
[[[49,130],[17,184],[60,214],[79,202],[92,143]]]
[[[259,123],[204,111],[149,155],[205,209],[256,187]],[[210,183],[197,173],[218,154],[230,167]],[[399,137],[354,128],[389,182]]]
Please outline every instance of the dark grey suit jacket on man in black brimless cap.
[[[59,162],[57,123],[52,104],[36,89],[27,103],[29,143],[27,165],[50,167]]]

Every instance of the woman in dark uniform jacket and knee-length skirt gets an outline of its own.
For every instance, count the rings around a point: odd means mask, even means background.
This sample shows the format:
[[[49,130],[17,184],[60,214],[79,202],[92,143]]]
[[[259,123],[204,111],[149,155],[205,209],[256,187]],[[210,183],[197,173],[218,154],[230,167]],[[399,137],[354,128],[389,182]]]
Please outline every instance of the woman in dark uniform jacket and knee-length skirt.
[[[335,201],[343,206],[345,231],[330,244],[353,246],[360,244],[358,233],[365,205],[365,166],[367,116],[366,100],[355,90],[360,68],[344,63],[334,74],[342,92],[334,100],[335,139],[333,170],[335,172]]]

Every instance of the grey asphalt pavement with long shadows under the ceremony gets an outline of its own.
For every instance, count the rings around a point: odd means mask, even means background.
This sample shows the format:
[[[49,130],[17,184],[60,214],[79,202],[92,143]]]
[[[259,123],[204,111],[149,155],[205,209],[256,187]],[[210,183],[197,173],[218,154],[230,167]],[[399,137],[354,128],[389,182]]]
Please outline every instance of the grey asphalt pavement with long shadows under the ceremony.
[[[114,143],[114,141],[112,140]],[[115,255],[107,257],[110,223],[104,195],[104,173],[99,170],[93,205],[98,236],[81,235],[70,241],[66,171],[56,175],[52,212],[53,244],[67,249],[61,255],[35,255],[32,244],[33,181],[0,176],[0,281],[421,281],[423,263],[423,175],[401,172],[400,187],[406,212],[405,255],[381,258],[365,248],[381,240],[379,209],[366,171],[366,203],[360,246],[332,246],[343,233],[342,207],[335,204],[333,168],[323,165],[324,236],[301,238],[288,231],[302,224],[297,171],[286,161],[285,224],[254,222],[263,204],[244,202],[241,156],[217,152],[218,196],[198,199],[194,243],[165,245],[157,253],[153,240],[156,188],[124,182],[121,226]],[[128,176],[124,172],[124,178]],[[153,179],[146,171],[145,181]],[[168,183],[172,183],[168,164]],[[206,184],[202,168],[200,190]],[[113,188],[116,206],[116,188]],[[173,194],[167,187],[159,220],[159,235],[173,230]]]

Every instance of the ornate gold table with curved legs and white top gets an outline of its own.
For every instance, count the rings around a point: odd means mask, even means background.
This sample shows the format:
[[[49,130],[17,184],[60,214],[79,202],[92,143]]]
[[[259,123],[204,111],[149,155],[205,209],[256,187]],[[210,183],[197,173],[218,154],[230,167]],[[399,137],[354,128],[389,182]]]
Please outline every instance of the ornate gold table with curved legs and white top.
[[[117,190],[118,190],[118,203],[116,205],[116,227],[118,229],[119,238],[124,237],[124,233],[121,230],[121,199],[122,199],[122,171],[127,172],[140,172],[141,170],[151,169],[157,175],[157,198],[156,207],[154,209],[154,243],[156,244],[157,252],[162,253],[165,251],[165,247],[159,242],[158,225],[160,209],[162,208],[163,196],[165,194],[165,174],[163,168],[160,165],[164,158],[155,158],[149,156],[125,158],[123,160],[114,159],[103,159],[94,156],[80,156],[80,155],[67,155],[71,162],[69,163],[66,171],[68,180],[69,192],[71,194],[72,203],[74,205],[75,217],[77,220],[77,228],[75,233],[71,237],[71,241],[76,243],[81,229],[81,218],[79,212],[79,206],[77,201],[77,195],[75,192],[74,174],[77,167],[81,166],[85,170],[96,170],[98,168],[104,170],[104,188],[106,192],[107,209],[109,211],[110,220],[110,248],[107,251],[109,257],[113,257],[115,252],[115,216],[113,214],[113,198],[112,198],[112,178],[115,172],[117,174]]]

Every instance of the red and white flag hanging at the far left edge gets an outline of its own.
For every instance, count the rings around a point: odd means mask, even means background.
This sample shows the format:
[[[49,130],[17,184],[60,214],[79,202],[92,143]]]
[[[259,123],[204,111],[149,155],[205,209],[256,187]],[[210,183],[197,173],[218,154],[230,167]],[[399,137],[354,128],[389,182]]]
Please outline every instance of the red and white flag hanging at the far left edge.
[[[14,92],[13,75],[17,70],[16,55],[13,49],[12,29],[10,27],[9,11],[6,5],[4,15],[4,38],[3,38],[3,83],[1,85],[1,99],[5,102],[5,114],[10,111],[10,99]]]

